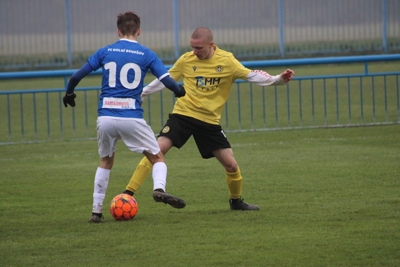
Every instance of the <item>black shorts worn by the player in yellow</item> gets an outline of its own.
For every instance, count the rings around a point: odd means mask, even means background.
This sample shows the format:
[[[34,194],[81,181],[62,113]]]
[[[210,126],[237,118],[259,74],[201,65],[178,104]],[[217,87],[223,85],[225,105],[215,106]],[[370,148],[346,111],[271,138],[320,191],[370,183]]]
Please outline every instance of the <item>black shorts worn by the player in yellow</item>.
[[[174,146],[181,148],[193,135],[202,158],[213,158],[213,151],[231,148],[221,125],[205,123],[189,116],[169,114],[169,119],[159,136],[168,137]]]

